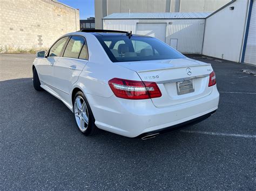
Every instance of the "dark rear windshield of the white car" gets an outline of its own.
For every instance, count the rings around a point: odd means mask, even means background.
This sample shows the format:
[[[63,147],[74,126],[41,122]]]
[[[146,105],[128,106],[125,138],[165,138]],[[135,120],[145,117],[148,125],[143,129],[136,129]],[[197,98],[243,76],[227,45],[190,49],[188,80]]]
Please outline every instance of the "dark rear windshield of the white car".
[[[96,36],[112,62],[167,60],[185,56],[151,37]]]

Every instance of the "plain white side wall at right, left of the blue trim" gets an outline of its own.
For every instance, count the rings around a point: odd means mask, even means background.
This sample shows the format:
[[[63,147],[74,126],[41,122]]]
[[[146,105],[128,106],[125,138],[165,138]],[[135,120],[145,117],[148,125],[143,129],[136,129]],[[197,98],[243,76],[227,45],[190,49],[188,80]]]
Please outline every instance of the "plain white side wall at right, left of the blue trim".
[[[240,61],[247,3],[247,0],[237,0],[206,19],[204,55]],[[231,6],[234,10],[230,10]]]

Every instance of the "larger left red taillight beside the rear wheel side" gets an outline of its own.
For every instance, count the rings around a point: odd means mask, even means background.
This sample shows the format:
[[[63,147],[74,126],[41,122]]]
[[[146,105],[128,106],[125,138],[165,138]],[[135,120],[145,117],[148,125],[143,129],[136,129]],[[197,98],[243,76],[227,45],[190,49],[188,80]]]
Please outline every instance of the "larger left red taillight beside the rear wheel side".
[[[161,97],[156,82],[143,82],[114,78],[109,81],[114,95],[130,100],[142,100]]]

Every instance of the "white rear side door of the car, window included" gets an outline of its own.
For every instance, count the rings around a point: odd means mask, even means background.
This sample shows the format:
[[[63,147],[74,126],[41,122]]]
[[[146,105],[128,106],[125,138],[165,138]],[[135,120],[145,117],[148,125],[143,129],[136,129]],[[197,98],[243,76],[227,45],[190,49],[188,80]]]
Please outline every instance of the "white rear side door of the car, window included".
[[[87,61],[88,51],[85,38],[72,36],[66,45],[63,57],[58,59],[54,67],[54,87],[65,100],[69,99],[72,85],[78,80]]]

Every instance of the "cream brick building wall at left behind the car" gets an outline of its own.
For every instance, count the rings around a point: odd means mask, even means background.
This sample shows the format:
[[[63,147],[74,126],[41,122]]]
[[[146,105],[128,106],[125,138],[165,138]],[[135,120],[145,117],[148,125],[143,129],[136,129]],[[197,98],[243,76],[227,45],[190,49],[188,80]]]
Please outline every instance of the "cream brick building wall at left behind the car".
[[[0,52],[49,48],[79,30],[79,11],[52,0],[0,0]]]

